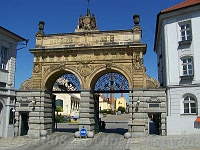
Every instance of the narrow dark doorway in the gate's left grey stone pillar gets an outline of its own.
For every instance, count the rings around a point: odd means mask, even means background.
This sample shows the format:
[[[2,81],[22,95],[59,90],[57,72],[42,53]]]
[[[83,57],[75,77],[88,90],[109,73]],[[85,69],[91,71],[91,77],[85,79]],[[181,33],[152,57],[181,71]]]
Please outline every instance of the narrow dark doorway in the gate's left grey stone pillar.
[[[29,126],[28,126],[28,112],[21,113],[21,136],[27,135]]]

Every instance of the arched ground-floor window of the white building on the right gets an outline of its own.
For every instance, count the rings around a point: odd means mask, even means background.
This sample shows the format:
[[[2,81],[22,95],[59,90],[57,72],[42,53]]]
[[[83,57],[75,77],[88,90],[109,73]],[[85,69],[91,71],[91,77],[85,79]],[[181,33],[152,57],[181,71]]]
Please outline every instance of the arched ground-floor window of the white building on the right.
[[[186,96],[183,101],[184,114],[196,114],[197,104],[196,100],[192,96]]]

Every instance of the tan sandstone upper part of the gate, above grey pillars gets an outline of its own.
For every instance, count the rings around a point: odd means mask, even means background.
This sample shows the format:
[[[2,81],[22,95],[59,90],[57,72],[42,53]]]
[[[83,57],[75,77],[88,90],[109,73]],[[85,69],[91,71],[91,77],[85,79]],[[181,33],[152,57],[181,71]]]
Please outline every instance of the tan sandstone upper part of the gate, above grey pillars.
[[[157,87],[157,82],[147,77],[143,66],[146,44],[141,42],[141,37],[139,22],[130,30],[81,29],[74,33],[36,34],[36,46],[30,50],[34,55],[34,68],[28,87],[49,89],[51,86],[46,85],[53,83],[45,82],[54,82],[55,77],[68,72],[77,76],[81,88],[90,89],[98,73],[111,71],[122,74],[130,88]]]

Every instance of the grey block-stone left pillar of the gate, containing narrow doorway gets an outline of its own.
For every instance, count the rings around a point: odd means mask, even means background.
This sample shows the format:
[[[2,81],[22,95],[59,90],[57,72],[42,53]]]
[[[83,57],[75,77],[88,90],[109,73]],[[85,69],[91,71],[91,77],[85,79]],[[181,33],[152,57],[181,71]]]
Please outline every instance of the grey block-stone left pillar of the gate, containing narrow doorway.
[[[47,90],[17,91],[15,113],[15,136],[21,135],[21,116],[28,114],[28,133],[32,138],[51,134],[54,129],[53,100],[54,96]],[[43,135],[45,133],[45,135]]]

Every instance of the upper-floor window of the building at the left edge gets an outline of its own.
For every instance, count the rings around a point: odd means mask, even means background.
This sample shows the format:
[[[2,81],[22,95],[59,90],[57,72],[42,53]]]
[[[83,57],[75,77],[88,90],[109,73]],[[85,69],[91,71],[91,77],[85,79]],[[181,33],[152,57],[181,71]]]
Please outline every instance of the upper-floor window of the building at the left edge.
[[[1,47],[1,55],[0,55],[0,68],[6,69],[6,64],[8,61],[8,49],[5,47]]]

